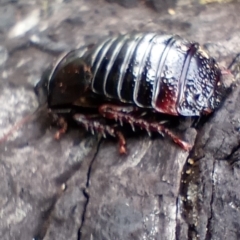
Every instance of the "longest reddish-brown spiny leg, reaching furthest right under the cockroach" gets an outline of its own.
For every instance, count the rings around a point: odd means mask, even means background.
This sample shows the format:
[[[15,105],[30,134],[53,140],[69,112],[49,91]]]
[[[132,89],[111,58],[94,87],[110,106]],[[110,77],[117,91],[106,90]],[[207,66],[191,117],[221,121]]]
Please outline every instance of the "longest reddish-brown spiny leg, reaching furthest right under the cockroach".
[[[161,123],[148,122],[147,120],[133,116],[131,113],[136,111],[137,108],[124,107],[124,106],[119,107],[112,104],[104,104],[100,106],[98,110],[99,110],[99,113],[105,118],[126,122],[131,124],[132,126],[134,125],[139,126],[143,129],[146,129],[148,132],[158,132],[160,134],[166,134],[184,150],[190,151],[192,149],[192,146],[189,143],[181,140],[169,129],[164,127]]]

